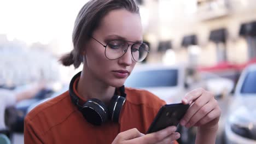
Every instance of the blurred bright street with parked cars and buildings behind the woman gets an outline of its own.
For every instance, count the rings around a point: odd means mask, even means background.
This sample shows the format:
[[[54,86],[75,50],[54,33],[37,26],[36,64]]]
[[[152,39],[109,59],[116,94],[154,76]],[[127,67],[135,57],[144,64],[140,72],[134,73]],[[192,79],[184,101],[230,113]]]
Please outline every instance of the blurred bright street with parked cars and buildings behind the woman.
[[[82,70],[63,67],[58,59],[73,48],[75,17],[86,2],[0,0],[0,100],[2,90],[43,85],[32,97],[4,107],[0,118],[6,127],[0,125],[0,133],[11,143],[24,143],[26,113],[67,91]],[[168,104],[194,88],[212,91],[222,109],[216,143],[256,143],[256,1],[137,2],[150,53],[125,86],[147,89]],[[196,128],[179,132],[179,143],[194,143]]]

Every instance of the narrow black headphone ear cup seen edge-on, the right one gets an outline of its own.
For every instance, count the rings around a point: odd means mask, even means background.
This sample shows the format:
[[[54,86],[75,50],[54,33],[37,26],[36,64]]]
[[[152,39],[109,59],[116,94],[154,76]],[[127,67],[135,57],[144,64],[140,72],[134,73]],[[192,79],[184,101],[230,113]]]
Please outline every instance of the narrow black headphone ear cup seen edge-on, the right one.
[[[124,103],[125,103],[125,98],[119,95],[114,95],[110,100],[108,111],[109,111],[109,117],[112,122],[119,121],[119,115]]]

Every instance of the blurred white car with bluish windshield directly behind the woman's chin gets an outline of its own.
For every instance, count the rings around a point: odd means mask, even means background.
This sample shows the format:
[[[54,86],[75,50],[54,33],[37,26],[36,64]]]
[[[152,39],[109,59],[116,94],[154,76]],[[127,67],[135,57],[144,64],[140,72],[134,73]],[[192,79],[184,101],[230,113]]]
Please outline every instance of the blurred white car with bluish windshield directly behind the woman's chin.
[[[137,65],[125,86],[146,89],[166,103],[180,103],[187,92],[184,74],[184,67],[177,65]]]

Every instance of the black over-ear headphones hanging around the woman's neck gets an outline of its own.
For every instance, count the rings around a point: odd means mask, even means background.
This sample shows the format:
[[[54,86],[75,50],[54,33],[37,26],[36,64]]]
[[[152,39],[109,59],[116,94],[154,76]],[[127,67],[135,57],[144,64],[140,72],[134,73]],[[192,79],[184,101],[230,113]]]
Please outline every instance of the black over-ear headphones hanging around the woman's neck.
[[[117,88],[115,89],[115,93],[108,107],[102,101],[95,98],[88,99],[83,105],[79,105],[79,97],[74,93],[73,85],[75,80],[81,75],[81,72],[82,71],[74,75],[69,84],[69,95],[72,103],[78,107],[84,118],[93,125],[101,125],[106,122],[108,118],[111,119],[112,122],[118,122],[121,109],[125,103],[125,87],[121,86],[118,88],[121,96],[117,94]]]

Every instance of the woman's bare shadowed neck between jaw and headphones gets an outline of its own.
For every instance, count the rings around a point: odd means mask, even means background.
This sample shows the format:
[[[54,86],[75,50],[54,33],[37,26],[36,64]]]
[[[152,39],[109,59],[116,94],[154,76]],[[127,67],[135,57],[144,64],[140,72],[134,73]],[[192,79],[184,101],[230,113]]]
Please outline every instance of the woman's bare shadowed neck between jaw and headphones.
[[[96,98],[108,105],[110,99],[113,97],[115,88],[106,85],[102,81],[98,81],[94,76],[82,71],[78,81],[77,92],[85,100]]]

